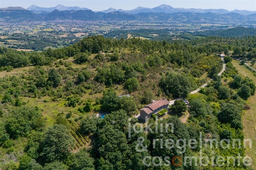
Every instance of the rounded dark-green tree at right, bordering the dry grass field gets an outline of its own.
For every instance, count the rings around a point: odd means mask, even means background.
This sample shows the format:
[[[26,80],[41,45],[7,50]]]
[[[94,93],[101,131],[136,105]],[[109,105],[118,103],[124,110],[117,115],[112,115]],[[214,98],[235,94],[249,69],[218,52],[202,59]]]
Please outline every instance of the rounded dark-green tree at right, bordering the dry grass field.
[[[233,104],[224,104],[221,107],[221,112],[218,113],[218,119],[222,123],[230,123],[235,129],[242,129],[242,116],[237,106]]]

